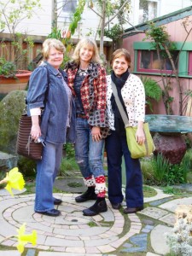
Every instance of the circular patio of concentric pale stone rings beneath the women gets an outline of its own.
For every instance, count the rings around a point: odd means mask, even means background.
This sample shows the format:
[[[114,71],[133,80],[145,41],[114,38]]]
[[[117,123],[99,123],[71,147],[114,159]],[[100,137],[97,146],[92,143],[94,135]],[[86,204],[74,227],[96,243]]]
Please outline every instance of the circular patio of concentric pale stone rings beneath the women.
[[[108,212],[102,212],[99,216],[84,216],[82,210],[90,207],[93,202],[77,204],[74,201],[75,196],[55,194],[55,197],[63,201],[61,206],[57,206],[61,210],[61,216],[56,218],[33,211],[34,195],[16,195],[14,199],[5,196],[1,204],[0,221],[3,229],[0,230],[0,235],[11,236],[26,222],[26,232],[37,230],[38,245],[35,248],[75,255],[94,253],[94,247],[96,253],[112,253],[116,250],[116,244],[120,246],[141,230],[140,219],[133,214],[134,222],[131,223],[130,230],[125,231],[124,216],[113,210],[108,200]],[[95,226],[90,226],[90,223]],[[15,240],[10,239],[9,244],[6,241],[6,245],[14,246]],[[28,244],[27,247],[32,245]]]

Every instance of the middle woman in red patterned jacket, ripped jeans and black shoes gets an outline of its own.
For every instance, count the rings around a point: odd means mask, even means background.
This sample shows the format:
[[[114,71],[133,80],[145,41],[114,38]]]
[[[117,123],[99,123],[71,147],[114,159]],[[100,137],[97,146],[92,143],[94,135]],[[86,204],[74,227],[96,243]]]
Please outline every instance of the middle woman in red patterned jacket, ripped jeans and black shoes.
[[[73,61],[66,67],[68,85],[76,96],[75,156],[88,187],[77,202],[96,200],[83,213],[93,216],[108,210],[105,193],[105,175],[102,166],[102,148],[108,127],[106,115],[106,71],[100,65],[96,42],[84,38],[77,44]]]

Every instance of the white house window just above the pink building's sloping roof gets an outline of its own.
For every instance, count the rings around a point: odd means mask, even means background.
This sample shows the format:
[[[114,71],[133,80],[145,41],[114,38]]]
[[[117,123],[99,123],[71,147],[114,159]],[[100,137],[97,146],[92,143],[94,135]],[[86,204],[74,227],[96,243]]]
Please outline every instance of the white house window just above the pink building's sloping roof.
[[[147,20],[153,20],[157,17],[157,1],[140,0],[139,1],[139,23]]]

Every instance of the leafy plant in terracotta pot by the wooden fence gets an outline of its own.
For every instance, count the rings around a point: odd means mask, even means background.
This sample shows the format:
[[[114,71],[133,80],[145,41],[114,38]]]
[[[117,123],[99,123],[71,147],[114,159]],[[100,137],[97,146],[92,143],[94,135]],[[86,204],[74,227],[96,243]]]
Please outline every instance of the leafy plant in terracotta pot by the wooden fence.
[[[0,94],[11,90],[25,90],[31,71],[27,70],[27,56],[33,41],[27,34],[17,32],[17,26],[24,19],[30,19],[40,0],[0,1]],[[0,56],[1,56],[0,55]]]

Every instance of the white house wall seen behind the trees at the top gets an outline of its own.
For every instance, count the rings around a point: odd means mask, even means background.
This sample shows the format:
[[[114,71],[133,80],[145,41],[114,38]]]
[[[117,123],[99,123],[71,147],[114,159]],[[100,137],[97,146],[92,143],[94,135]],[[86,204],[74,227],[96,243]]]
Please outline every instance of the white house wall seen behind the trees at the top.
[[[139,13],[139,1],[140,0],[131,0],[131,12],[130,12],[130,23],[136,26],[138,24],[138,13]],[[153,1],[153,0],[150,0]],[[166,15],[170,12],[176,11],[178,9],[183,9],[191,4],[190,0],[154,0],[159,3],[158,16]],[[52,2],[51,0],[41,0],[42,8],[35,9],[35,13],[31,19],[22,20],[18,26],[18,32],[27,32],[29,35],[34,36],[47,36],[51,32],[51,17],[52,17]],[[58,9],[61,7],[62,1],[58,0]],[[94,1],[95,4],[95,1]],[[70,23],[70,19],[67,18],[67,15],[61,12],[61,9],[58,10],[58,27],[63,30],[67,30]],[[117,19],[111,22],[111,25],[118,22]],[[96,37],[96,30],[100,24],[100,17],[91,11],[87,3],[85,4],[84,14],[82,15],[82,20],[79,22],[79,28],[75,34],[75,38],[81,38],[85,35],[91,35]],[[126,28],[131,27],[128,23],[125,25]],[[8,29],[3,31],[8,33]],[[99,39],[97,35],[96,39]],[[105,38],[107,41],[111,41],[109,38]]]

